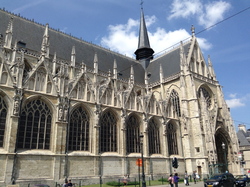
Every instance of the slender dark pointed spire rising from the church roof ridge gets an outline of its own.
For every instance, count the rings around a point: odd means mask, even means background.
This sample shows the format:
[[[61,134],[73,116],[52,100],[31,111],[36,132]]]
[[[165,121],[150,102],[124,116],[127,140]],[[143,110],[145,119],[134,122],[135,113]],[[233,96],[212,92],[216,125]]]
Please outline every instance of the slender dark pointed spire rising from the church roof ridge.
[[[141,61],[143,67],[146,69],[150,63],[150,59],[153,59],[153,54],[154,50],[150,47],[144,13],[141,8],[139,42],[138,49],[135,51],[136,60]]]

